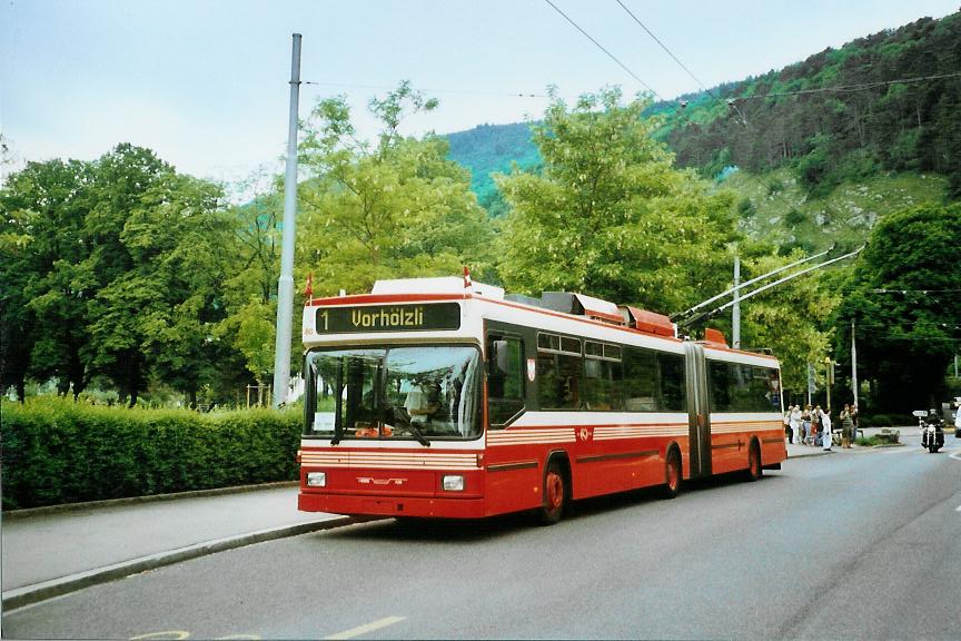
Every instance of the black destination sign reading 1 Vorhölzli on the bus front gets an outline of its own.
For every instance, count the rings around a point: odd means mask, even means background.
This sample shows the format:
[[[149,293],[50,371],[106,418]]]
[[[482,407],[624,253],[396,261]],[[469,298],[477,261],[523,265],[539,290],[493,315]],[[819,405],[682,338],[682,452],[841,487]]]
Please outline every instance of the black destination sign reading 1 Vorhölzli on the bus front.
[[[327,307],[317,310],[317,334],[459,328],[460,306],[457,303],[365,305],[364,307]]]

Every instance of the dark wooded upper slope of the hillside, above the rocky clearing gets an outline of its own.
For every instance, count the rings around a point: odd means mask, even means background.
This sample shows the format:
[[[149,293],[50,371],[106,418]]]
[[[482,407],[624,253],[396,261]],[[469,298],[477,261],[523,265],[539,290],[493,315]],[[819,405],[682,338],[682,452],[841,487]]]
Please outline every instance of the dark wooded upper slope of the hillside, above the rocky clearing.
[[[823,195],[881,170],[933,171],[961,196],[961,13],[682,99],[665,139],[680,164],[709,175],[790,164]]]

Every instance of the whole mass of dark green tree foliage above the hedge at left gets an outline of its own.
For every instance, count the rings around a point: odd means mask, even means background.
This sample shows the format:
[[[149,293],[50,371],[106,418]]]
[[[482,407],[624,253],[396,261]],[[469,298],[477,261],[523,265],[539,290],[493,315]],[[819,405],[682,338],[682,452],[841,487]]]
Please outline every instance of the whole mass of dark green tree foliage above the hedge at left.
[[[57,377],[76,396],[100,375],[135,404],[156,376],[192,398],[219,356],[220,197],[126,144],[12,176],[0,194],[4,384]]]

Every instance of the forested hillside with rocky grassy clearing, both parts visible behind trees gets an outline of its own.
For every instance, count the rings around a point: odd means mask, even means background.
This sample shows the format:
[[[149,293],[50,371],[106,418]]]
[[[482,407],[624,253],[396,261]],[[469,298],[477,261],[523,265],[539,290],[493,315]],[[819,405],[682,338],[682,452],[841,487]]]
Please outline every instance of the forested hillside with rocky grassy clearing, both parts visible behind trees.
[[[742,227],[785,248],[854,244],[886,213],[961,197],[961,13],[825,49],[653,105],[676,162],[739,197]],[[492,214],[492,171],[536,166],[524,124],[448,137]],[[729,177],[732,177],[729,179]]]

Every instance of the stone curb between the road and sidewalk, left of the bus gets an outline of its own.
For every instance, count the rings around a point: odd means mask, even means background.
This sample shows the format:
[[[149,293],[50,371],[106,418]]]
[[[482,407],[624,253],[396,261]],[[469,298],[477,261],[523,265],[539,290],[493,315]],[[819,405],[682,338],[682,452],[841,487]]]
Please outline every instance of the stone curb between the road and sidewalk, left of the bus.
[[[333,530],[335,527],[353,525],[354,523],[364,523],[366,521],[376,520],[378,519],[331,516],[311,523],[298,523],[297,525],[270,527],[268,530],[258,530],[256,532],[241,534],[240,536],[228,536],[226,539],[205,541],[204,543],[187,545],[186,548],[179,548],[169,552],[160,552],[149,556],[131,559],[130,561],[97,568],[96,570],[88,570],[69,576],[61,576],[59,579],[34,583],[33,585],[24,585],[22,588],[8,590],[7,592],[3,592],[2,605],[3,610],[9,612],[18,608],[23,608],[24,605],[31,605],[55,596],[61,596],[63,594],[69,594],[70,592],[90,588],[91,585],[99,585],[100,583],[123,579],[131,574],[139,574],[140,572],[156,570],[157,568],[172,565],[190,559],[197,559],[217,552],[225,552],[227,550],[235,550],[237,548],[262,543],[265,541],[274,541],[287,536],[299,536],[300,534],[307,534],[310,532]]]

